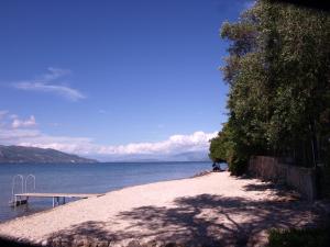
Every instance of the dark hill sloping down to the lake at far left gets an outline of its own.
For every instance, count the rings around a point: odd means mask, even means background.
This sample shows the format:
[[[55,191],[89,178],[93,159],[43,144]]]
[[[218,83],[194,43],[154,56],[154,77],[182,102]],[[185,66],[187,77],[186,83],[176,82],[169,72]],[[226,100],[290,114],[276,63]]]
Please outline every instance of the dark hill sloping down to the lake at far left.
[[[0,145],[0,164],[33,162],[33,164],[87,164],[98,162],[77,155],[69,155],[51,148],[2,146]]]

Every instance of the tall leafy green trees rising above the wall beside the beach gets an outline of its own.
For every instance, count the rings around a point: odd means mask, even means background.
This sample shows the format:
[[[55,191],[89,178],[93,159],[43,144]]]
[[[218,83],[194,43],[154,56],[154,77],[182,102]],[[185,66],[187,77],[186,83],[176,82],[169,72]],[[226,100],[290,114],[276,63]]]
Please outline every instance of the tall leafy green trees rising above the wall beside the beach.
[[[221,68],[229,122],[210,157],[227,160],[233,173],[251,155],[329,162],[329,13],[258,0],[238,22],[223,23],[221,37],[230,41]]]

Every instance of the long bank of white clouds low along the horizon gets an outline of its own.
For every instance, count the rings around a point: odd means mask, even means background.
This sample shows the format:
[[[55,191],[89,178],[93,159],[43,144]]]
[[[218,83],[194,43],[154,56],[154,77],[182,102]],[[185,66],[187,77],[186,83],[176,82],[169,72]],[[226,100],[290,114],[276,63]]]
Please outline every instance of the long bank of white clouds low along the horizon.
[[[9,119],[10,116],[7,116]],[[57,150],[82,155],[87,157],[113,157],[124,156],[173,156],[189,151],[205,151],[207,154],[209,139],[217,135],[217,132],[205,133],[202,131],[188,135],[172,135],[162,142],[130,143],[127,145],[100,145],[88,137],[51,136],[36,128],[35,117],[18,121],[8,124],[0,119],[0,143],[4,145],[33,146],[41,148],[54,148]]]

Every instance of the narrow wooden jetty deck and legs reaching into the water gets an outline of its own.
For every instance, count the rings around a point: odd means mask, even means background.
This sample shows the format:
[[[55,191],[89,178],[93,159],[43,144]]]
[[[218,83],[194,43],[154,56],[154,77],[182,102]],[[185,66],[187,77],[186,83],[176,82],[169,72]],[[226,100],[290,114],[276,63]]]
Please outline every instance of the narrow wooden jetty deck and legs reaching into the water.
[[[67,198],[95,198],[101,197],[103,194],[98,193],[19,193],[14,194],[14,200],[11,202],[12,206],[18,206],[22,204],[26,204],[29,198],[53,198],[53,207],[57,204],[59,205],[59,199],[63,199],[62,202],[65,204],[65,199]]]

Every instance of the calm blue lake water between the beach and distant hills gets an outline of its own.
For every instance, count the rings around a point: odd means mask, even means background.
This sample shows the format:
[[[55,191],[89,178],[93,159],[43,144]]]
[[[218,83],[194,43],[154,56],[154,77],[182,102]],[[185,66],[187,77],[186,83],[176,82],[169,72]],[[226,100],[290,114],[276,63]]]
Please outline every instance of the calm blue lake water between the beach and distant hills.
[[[36,177],[35,192],[103,193],[120,188],[188,178],[211,169],[211,162],[131,162],[68,165],[0,165],[0,222],[52,207],[52,199],[30,199],[28,205],[10,207],[12,178]],[[28,190],[32,190],[28,182]],[[15,191],[20,191],[16,180]]]

